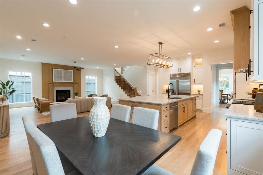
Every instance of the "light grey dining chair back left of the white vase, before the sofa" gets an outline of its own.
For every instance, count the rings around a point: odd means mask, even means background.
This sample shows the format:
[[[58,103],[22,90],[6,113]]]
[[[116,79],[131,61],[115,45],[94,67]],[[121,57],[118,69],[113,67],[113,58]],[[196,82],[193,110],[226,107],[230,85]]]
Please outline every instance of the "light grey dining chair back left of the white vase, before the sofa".
[[[51,122],[77,117],[77,109],[75,103],[53,104],[49,108]]]

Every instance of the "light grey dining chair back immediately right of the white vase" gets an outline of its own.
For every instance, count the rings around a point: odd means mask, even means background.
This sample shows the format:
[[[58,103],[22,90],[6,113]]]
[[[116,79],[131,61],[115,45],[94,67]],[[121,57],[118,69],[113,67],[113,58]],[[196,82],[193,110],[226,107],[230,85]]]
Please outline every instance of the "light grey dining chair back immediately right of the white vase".
[[[130,120],[130,106],[122,105],[122,104],[113,104],[111,111],[111,118],[115,118],[118,120],[122,120],[125,122],[129,122]]]

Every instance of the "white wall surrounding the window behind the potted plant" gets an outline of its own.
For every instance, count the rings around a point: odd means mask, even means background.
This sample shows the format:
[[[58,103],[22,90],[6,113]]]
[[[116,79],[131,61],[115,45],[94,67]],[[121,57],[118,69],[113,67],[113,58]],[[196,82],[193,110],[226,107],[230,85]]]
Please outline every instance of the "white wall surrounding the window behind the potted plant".
[[[7,81],[7,71],[31,71],[33,72],[33,96],[42,97],[42,71],[41,63],[20,60],[0,59],[0,79]],[[33,102],[10,104],[10,108],[33,106]]]

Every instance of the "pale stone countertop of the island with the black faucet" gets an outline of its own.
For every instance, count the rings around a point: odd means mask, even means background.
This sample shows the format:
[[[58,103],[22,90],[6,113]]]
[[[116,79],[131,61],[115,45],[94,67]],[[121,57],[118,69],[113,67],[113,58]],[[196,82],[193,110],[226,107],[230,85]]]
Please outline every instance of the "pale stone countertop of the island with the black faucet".
[[[161,94],[161,95],[124,98],[124,99],[119,99],[119,100],[163,105],[163,104],[169,104],[169,103],[173,103],[173,102],[177,102],[181,100],[186,100],[186,99],[193,98],[196,96],[195,95],[171,95],[171,97],[181,97],[181,99],[168,99],[167,97],[168,97],[167,94]]]

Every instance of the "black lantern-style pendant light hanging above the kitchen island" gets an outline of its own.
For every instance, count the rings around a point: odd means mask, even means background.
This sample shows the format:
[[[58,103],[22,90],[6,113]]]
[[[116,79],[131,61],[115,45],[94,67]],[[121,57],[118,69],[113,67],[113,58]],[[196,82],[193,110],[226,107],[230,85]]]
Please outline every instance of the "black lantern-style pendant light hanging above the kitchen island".
[[[159,53],[154,53],[149,56],[147,65],[160,67],[160,68],[170,68],[173,67],[173,63],[170,57],[163,55],[163,43],[159,42]]]

